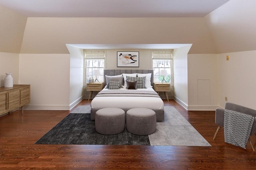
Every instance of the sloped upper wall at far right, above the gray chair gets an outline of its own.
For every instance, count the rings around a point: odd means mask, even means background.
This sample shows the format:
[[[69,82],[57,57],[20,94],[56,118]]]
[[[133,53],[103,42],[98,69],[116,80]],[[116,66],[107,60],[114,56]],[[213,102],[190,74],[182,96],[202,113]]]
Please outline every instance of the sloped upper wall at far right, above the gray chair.
[[[216,53],[256,50],[256,0],[230,0],[204,18]]]

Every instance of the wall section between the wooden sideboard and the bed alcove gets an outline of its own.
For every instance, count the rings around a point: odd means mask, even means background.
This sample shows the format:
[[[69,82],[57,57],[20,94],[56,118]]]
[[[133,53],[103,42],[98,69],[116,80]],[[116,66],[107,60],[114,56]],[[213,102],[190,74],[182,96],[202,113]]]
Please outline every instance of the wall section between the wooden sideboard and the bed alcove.
[[[19,84],[31,85],[26,109],[69,110],[69,54],[20,54]]]

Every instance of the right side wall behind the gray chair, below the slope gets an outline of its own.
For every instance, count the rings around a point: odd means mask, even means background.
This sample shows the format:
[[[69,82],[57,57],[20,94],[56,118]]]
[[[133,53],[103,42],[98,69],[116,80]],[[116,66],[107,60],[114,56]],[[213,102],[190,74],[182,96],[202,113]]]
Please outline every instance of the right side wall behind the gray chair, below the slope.
[[[226,56],[229,55],[229,61]],[[256,109],[256,51],[218,54],[218,100]]]

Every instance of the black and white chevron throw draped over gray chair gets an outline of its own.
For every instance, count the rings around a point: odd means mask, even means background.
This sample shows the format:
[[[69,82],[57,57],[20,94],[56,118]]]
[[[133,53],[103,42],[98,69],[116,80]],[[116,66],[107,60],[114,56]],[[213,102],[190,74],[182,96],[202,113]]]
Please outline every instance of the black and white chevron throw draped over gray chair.
[[[226,143],[246,149],[255,117],[237,111],[224,110],[224,139]]]

